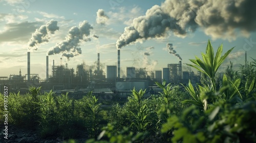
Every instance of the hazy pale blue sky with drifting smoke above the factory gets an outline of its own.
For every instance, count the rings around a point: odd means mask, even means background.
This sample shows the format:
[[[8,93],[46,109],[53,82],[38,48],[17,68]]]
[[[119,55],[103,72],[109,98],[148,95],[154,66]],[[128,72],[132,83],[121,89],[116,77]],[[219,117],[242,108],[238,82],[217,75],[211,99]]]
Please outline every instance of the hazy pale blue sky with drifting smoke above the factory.
[[[235,47],[221,69],[256,58],[256,2],[254,0],[94,0],[0,1],[0,77],[31,74],[46,78],[49,65],[100,62],[126,67],[161,70],[169,63],[191,63],[201,57],[210,40],[215,52]],[[251,58],[250,58],[251,57]],[[51,73],[51,68],[49,68]]]

